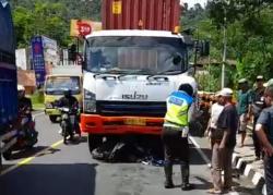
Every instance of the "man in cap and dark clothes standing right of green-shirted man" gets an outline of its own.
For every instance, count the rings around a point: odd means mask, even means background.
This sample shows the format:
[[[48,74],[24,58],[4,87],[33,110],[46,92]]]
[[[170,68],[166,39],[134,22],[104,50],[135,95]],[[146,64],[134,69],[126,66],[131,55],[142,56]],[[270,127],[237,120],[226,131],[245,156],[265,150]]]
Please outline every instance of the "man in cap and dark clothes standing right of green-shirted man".
[[[257,120],[264,108],[264,101],[263,101],[263,94],[265,87],[263,86],[263,76],[259,75],[257,76],[256,80],[256,88],[253,89],[252,93],[252,105],[251,105],[251,110],[250,113],[253,115],[253,132],[252,132],[252,138],[253,138],[253,144],[254,144],[254,153],[256,153],[256,159],[260,160],[262,157],[262,151],[261,151],[261,145],[260,142],[257,137],[257,134],[254,133]]]

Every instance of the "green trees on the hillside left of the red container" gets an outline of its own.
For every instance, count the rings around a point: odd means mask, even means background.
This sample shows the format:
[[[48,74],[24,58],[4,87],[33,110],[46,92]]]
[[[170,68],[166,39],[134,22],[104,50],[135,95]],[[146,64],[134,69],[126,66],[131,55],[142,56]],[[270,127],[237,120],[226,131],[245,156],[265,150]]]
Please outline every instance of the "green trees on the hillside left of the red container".
[[[31,37],[45,35],[56,39],[61,47],[69,37],[71,19],[100,17],[100,0],[11,0],[17,47],[27,47]]]

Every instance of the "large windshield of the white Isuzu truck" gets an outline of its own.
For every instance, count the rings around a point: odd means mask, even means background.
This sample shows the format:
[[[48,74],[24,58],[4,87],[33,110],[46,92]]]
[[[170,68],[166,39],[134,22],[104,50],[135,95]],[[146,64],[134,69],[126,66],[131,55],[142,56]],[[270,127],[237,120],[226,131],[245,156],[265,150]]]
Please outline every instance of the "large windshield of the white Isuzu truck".
[[[186,45],[174,37],[91,37],[85,58],[85,71],[98,74],[180,74],[188,70]]]

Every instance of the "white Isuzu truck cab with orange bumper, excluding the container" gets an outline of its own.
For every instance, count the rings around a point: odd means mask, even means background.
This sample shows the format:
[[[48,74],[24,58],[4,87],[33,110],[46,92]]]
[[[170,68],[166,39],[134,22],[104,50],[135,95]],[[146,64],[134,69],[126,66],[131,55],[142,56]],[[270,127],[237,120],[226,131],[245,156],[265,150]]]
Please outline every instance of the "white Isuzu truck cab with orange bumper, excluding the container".
[[[81,130],[90,148],[107,135],[159,135],[166,98],[188,74],[185,37],[165,31],[100,31],[86,37]]]

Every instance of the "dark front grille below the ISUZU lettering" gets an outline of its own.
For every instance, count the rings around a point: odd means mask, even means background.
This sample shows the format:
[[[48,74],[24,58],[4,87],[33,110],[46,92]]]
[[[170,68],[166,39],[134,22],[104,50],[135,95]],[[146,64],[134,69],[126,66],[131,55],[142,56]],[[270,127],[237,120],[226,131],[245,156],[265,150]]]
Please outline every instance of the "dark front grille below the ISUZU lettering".
[[[97,101],[97,113],[102,115],[164,117],[166,102]]]

